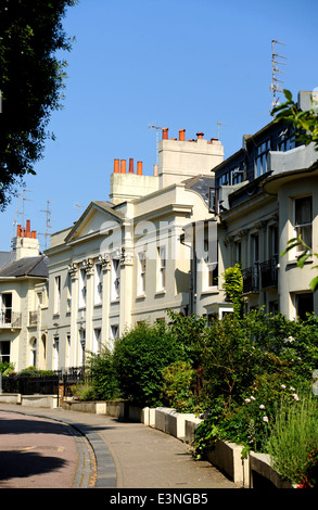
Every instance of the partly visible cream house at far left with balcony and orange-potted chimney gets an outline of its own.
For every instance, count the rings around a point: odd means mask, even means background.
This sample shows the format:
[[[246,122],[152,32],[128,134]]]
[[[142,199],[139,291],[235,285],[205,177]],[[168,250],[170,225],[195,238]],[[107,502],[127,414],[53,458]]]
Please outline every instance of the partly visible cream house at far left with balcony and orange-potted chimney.
[[[36,232],[17,226],[11,253],[0,268],[0,360],[20,371],[46,367],[47,258]],[[2,260],[4,260],[2,255]]]

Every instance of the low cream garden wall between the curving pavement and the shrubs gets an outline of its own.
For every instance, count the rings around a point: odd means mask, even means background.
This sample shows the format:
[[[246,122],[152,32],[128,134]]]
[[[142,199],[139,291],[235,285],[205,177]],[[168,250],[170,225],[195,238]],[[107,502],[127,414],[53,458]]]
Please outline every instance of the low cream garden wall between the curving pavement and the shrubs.
[[[58,397],[48,395],[0,394],[0,403],[30,407],[58,407]],[[192,413],[180,413],[167,407],[140,409],[122,400],[81,401],[64,399],[60,405],[65,410],[106,415],[118,420],[143,423],[191,444],[194,431],[203,421]],[[205,452],[207,460],[224,472],[238,486],[244,488],[294,488],[282,482],[272,470],[269,457],[250,452],[242,459],[242,447],[234,443],[218,441]]]

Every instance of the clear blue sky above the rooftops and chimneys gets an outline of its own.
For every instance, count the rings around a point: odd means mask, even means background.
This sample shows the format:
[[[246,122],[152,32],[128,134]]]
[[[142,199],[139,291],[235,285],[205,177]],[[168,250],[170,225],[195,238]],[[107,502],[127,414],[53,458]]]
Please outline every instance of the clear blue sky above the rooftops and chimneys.
[[[271,120],[271,40],[285,56],[283,87],[318,87],[316,0],[80,0],[64,20],[76,37],[68,62],[64,109],[51,116],[37,176],[25,179],[24,218],[51,232],[72,226],[93,200],[109,200],[114,158],[143,162],[152,175],[156,133],[217,136],[225,156],[244,133]],[[22,189],[20,190],[22,192]],[[79,204],[80,207],[77,207]],[[0,251],[10,251],[22,195],[0,213]],[[44,235],[39,235],[44,248]]]

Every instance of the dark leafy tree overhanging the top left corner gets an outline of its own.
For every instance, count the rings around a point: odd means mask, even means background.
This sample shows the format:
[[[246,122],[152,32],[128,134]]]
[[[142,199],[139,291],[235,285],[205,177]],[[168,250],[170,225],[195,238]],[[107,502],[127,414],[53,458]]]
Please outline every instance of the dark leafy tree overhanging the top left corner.
[[[0,209],[42,157],[46,128],[61,107],[65,61],[72,48],[62,18],[77,0],[2,0],[0,5]]]

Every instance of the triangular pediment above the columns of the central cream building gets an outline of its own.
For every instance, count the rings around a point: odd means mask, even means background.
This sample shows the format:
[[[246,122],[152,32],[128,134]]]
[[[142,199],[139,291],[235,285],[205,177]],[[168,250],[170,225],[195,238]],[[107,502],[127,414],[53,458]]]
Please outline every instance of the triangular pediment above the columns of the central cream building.
[[[109,232],[122,225],[122,215],[113,211],[109,202],[91,202],[75,222],[65,242],[72,244],[99,235],[107,235]]]

